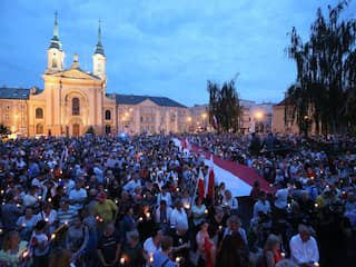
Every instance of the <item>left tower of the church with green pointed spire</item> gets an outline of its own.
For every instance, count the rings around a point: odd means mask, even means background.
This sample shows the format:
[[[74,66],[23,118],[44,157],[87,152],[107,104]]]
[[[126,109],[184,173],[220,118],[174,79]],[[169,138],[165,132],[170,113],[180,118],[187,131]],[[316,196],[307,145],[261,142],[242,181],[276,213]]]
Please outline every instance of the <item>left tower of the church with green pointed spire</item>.
[[[55,14],[53,37],[47,50],[47,73],[53,73],[63,70],[65,52],[58,37],[57,12]]]

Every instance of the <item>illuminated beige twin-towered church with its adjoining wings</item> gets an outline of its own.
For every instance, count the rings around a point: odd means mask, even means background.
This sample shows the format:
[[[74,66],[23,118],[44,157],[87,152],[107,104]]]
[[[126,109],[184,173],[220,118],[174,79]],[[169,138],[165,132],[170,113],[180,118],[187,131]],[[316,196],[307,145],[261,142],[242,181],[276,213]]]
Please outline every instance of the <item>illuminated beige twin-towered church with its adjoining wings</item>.
[[[80,69],[77,55],[65,68],[57,17],[47,59],[42,90],[0,88],[0,123],[11,132],[80,136],[89,127],[98,135],[188,131],[189,109],[169,98],[107,93],[100,23],[91,72]]]

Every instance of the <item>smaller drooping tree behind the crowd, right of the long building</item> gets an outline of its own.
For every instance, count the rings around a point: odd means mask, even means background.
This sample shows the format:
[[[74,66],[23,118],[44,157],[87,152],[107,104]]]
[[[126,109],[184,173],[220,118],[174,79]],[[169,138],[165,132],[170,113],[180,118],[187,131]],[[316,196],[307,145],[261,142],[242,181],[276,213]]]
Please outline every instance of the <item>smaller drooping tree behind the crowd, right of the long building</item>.
[[[209,121],[218,132],[239,129],[240,106],[235,81],[218,83],[208,81]]]

